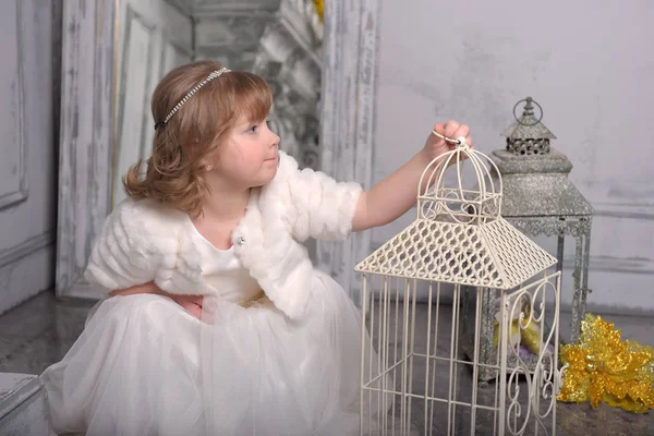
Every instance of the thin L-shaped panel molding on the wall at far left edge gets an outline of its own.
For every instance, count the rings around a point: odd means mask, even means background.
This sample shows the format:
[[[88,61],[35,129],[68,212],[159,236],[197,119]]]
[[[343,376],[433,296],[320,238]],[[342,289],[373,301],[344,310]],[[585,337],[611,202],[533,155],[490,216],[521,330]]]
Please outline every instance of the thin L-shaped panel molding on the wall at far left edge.
[[[0,195],[0,210],[25,202],[29,197],[27,187],[27,145],[25,144],[25,81],[23,76],[23,13],[22,0],[15,0],[16,8],[16,137],[19,147],[19,189]]]

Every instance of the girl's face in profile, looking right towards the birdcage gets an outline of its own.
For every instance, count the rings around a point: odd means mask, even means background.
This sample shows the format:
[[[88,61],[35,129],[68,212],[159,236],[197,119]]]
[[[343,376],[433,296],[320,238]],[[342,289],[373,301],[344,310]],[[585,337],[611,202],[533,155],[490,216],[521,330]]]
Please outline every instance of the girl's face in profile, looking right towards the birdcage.
[[[215,171],[234,187],[262,186],[277,173],[278,146],[279,136],[268,129],[266,120],[242,118],[219,147]]]

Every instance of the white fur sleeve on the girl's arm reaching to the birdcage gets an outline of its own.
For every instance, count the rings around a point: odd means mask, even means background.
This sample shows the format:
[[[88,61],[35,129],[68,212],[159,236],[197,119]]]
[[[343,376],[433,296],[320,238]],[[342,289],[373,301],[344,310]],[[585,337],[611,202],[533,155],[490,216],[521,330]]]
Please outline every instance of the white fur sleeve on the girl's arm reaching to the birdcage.
[[[299,171],[296,164],[294,166],[295,170],[288,178],[294,237],[300,241],[310,237],[327,241],[347,239],[352,231],[361,185],[337,182],[312,169]]]

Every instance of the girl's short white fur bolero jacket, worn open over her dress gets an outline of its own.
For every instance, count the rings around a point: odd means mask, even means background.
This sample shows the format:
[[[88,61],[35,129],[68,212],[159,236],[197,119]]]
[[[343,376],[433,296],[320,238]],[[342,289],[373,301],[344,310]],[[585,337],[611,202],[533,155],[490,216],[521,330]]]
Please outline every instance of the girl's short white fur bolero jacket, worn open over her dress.
[[[313,265],[307,238],[343,240],[352,229],[358,183],[300,171],[280,152],[275,179],[252,191],[245,216],[232,232],[234,253],[266,295],[290,318],[304,314]],[[214,294],[202,259],[187,238],[187,215],[150,199],[125,199],[107,217],[95,241],[86,279],[108,290],[154,280],[169,293]]]

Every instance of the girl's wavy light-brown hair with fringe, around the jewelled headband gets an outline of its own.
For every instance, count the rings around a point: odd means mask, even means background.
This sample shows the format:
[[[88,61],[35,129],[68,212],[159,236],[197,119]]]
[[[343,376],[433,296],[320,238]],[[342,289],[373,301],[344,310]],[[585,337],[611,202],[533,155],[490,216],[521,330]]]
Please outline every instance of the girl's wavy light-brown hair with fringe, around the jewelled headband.
[[[198,61],[169,72],[153,94],[153,124],[164,121],[194,86],[221,68],[216,61]],[[201,177],[208,156],[241,117],[263,121],[271,105],[270,87],[256,74],[230,71],[207,82],[157,128],[145,173],[140,159],[122,178],[125,193],[133,199],[154,198],[178,210],[199,214],[208,190]]]

